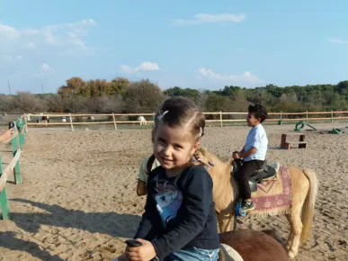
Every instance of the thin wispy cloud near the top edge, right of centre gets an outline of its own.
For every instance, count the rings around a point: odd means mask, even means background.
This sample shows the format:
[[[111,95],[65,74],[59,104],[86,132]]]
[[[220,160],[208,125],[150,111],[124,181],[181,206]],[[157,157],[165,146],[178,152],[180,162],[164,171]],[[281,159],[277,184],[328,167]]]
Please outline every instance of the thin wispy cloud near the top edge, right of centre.
[[[245,14],[195,14],[191,19],[176,19],[175,25],[196,25],[201,23],[239,23]]]

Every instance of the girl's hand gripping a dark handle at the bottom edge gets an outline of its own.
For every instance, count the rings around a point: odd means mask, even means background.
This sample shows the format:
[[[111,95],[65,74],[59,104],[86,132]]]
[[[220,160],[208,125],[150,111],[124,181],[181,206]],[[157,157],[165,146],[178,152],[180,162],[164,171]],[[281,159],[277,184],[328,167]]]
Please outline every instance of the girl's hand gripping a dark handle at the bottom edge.
[[[137,238],[143,245],[140,247],[126,247],[126,257],[129,261],[150,261],[156,257],[155,247],[150,241]]]

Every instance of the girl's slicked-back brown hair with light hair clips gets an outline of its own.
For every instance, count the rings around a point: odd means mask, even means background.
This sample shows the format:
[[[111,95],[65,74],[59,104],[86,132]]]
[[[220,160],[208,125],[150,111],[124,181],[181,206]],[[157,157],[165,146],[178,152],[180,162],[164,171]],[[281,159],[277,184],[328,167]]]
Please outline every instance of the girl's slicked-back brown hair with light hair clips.
[[[205,117],[191,100],[173,97],[166,100],[156,111],[152,141],[155,139],[159,124],[169,127],[187,127],[193,139],[198,140],[204,135]]]

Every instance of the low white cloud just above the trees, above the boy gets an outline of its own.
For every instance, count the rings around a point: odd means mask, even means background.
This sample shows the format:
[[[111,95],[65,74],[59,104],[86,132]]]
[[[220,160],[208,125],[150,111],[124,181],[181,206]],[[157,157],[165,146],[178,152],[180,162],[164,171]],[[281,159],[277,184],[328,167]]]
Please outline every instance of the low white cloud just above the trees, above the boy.
[[[251,72],[245,71],[242,75],[219,75],[215,72],[213,72],[211,69],[201,67],[198,69],[198,72],[201,76],[204,76],[206,78],[212,79],[212,80],[220,80],[220,81],[230,81],[230,82],[236,82],[236,83],[248,83],[248,84],[261,84],[263,83],[263,80],[260,79],[258,76],[252,75]]]

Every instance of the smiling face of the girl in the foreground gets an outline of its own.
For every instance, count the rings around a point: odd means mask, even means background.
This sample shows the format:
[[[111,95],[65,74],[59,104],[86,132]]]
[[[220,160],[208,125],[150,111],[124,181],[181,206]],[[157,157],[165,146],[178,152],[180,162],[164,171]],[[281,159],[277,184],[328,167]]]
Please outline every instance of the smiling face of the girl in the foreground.
[[[200,142],[192,137],[188,128],[159,124],[154,144],[154,154],[167,175],[178,175],[190,160]]]

